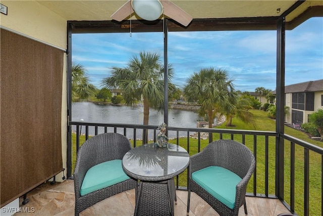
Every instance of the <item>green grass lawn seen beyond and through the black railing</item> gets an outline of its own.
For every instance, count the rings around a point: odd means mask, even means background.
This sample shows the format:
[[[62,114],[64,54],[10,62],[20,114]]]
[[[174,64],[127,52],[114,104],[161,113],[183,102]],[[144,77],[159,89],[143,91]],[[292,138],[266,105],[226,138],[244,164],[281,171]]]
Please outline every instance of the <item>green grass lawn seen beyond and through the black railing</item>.
[[[272,120],[267,117],[267,113],[260,110],[251,110],[256,118],[256,128],[253,128],[252,125],[246,124],[236,118],[233,119],[232,124],[235,125],[233,127],[226,127],[225,124],[218,126],[217,128],[227,128],[227,129],[246,129],[246,130],[256,130],[256,131],[275,131],[276,125],[275,120]],[[323,147],[323,143],[319,141],[314,141],[308,136],[294,128],[289,126],[285,126],[285,134],[298,138],[300,140],[306,141],[308,143],[317,145],[319,147]],[[219,134],[213,135],[213,140],[220,139]],[[224,134],[223,139],[231,139],[231,135]],[[245,144],[248,148],[253,151],[253,135],[246,135],[245,136]],[[234,140],[241,142],[242,136],[235,135]],[[85,136],[80,137],[80,143],[85,141]],[[256,175],[257,175],[257,182],[256,182],[256,193],[264,194],[264,168],[265,168],[265,137],[264,136],[257,136],[257,149],[256,149]],[[275,137],[269,137],[269,151],[268,151],[268,193],[275,194]],[[176,144],[176,140],[170,140],[170,143]],[[73,145],[73,159],[72,159],[72,170],[74,170],[75,160],[76,160],[76,136],[75,134],[72,135],[72,143]],[[208,140],[201,140],[200,147],[201,150],[208,144]],[[137,145],[141,145],[140,141],[137,141]],[[183,148],[187,148],[187,138],[180,138],[179,145]],[[189,145],[189,153],[190,155],[196,154],[198,151],[197,147],[197,140],[190,138],[190,145]],[[290,200],[290,142],[285,141],[285,201],[289,203]],[[310,152],[310,215],[320,215],[321,213],[321,155],[318,155],[314,152]],[[304,194],[304,187],[303,187],[303,179],[304,179],[304,149],[301,147],[295,147],[295,211],[302,215],[303,212],[303,194]],[[187,172],[183,172],[179,176],[179,185],[186,187],[187,185]],[[247,192],[253,193],[253,181],[248,184]]]

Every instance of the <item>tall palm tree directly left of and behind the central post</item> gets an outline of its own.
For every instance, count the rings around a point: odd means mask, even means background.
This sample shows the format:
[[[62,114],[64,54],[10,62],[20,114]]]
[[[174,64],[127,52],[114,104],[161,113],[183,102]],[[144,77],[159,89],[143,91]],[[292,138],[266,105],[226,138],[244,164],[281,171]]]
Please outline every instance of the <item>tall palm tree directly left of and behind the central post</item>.
[[[169,98],[172,99],[176,90],[171,83],[172,65],[168,66],[168,74]],[[132,57],[125,68],[112,67],[111,76],[104,78],[101,84],[107,89],[121,89],[127,105],[136,104],[142,98],[144,125],[148,125],[150,108],[159,112],[164,110],[164,66],[156,53],[140,52],[139,57]],[[143,143],[147,143],[147,136],[147,130],[144,130]]]

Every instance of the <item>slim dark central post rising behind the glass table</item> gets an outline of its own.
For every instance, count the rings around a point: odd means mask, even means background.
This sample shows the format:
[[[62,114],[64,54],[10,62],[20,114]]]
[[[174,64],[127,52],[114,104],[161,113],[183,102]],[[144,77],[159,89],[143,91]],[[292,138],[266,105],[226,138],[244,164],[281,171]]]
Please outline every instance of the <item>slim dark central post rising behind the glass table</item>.
[[[168,126],[168,19],[164,18],[164,122]],[[166,130],[168,136],[168,130]]]

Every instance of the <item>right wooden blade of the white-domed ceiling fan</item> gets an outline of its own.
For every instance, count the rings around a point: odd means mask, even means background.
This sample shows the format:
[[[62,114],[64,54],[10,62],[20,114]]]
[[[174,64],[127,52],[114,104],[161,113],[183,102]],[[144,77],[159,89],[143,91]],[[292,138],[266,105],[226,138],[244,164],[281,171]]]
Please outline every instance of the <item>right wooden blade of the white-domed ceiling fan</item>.
[[[164,7],[164,14],[169,18],[179,22],[184,26],[188,26],[193,20],[193,17],[183,11],[180,7],[172,3],[170,0],[161,0],[161,5]]]

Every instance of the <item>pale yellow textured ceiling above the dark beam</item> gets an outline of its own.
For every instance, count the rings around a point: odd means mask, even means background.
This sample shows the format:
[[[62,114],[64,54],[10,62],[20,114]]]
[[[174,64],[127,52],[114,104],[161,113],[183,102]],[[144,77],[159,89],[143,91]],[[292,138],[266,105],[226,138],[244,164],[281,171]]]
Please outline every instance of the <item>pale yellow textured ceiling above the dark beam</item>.
[[[37,1],[66,20],[111,20],[111,15],[127,1]],[[172,1],[194,18],[240,18],[280,16],[297,1]],[[286,17],[291,21],[311,6],[322,6],[323,1],[306,1]],[[277,9],[280,9],[278,12]],[[129,17],[128,17],[129,18]],[[138,17],[133,16],[132,19]],[[139,18],[140,19],[140,18]]]

